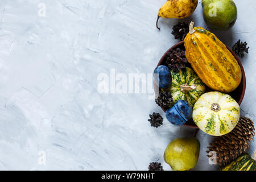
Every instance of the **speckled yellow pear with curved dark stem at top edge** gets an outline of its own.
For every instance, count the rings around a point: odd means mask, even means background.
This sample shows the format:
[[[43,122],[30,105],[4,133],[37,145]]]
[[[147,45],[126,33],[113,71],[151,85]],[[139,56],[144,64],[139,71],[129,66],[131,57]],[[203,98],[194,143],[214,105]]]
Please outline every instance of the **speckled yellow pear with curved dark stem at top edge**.
[[[187,18],[197,7],[198,0],[167,0],[158,12],[158,19],[162,18]],[[158,19],[156,27],[158,28]],[[160,28],[158,28],[160,30]]]

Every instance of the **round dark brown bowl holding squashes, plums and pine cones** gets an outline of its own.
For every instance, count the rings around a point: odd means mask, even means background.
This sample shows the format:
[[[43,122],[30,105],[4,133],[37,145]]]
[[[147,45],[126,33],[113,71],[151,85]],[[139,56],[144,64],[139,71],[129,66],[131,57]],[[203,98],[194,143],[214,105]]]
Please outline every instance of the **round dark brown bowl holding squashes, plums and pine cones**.
[[[168,49],[168,51],[166,51],[166,53],[164,53],[164,55],[160,59],[160,61],[158,63],[158,66],[165,64],[164,63],[164,59],[166,58],[167,52],[169,52],[171,49],[175,49],[175,48],[178,48],[178,47],[185,49],[184,41],[181,41],[181,42],[175,44],[174,46],[172,46],[170,49]],[[232,55],[236,58],[237,63],[240,65],[241,71],[242,71],[242,81],[241,81],[240,85],[238,86],[238,88],[236,90],[234,90],[233,92],[230,92],[228,94],[230,96],[232,96],[234,98],[234,100],[236,100],[238,102],[239,105],[241,105],[242,100],[243,100],[243,96],[245,96],[245,87],[246,87],[245,71],[243,70],[243,65],[242,65],[240,59],[237,57],[237,55],[232,51],[232,49],[230,49],[229,47],[227,47],[227,48],[232,53]],[[189,63],[186,66],[191,68],[191,65]],[[156,84],[154,84],[154,87],[155,87],[155,94],[156,94],[156,92],[157,92]],[[205,92],[211,92],[211,91],[212,90],[206,86]],[[166,112],[166,110],[163,107],[162,107],[162,109],[163,109],[164,112]],[[188,126],[188,127],[192,127],[192,128],[198,129],[196,124],[193,122],[193,119],[189,120],[184,125]]]

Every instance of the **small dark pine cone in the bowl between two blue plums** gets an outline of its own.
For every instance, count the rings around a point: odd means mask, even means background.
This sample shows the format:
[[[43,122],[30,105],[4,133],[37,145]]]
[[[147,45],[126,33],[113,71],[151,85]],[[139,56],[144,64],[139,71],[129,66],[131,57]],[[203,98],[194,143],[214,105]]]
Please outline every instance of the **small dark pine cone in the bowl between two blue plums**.
[[[168,91],[160,91],[158,93],[158,98],[155,98],[155,102],[160,107],[167,109],[172,105],[172,94]]]

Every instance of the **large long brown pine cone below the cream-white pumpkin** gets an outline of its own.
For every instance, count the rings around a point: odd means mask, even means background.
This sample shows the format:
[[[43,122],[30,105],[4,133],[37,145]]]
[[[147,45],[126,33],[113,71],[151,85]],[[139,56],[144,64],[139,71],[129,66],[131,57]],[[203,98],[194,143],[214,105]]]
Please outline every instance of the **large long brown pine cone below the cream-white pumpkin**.
[[[213,143],[210,143],[210,147],[208,147],[207,153],[209,154],[210,151],[216,152],[216,162],[220,166],[225,166],[246,151],[254,141],[254,135],[253,121],[241,116],[234,130],[226,135],[214,138]],[[211,158],[214,154],[207,156]]]

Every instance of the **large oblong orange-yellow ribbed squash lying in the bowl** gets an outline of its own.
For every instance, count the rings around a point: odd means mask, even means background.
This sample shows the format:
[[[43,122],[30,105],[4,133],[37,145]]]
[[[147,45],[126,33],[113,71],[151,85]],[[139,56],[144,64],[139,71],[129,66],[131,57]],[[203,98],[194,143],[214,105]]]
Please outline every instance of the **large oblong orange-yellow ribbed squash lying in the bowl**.
[[[214,34],[201,27],[193,30],[184,40],[186,57],[193,70],[209,88],[232,92],[242,79],[237,60]]]

